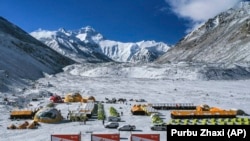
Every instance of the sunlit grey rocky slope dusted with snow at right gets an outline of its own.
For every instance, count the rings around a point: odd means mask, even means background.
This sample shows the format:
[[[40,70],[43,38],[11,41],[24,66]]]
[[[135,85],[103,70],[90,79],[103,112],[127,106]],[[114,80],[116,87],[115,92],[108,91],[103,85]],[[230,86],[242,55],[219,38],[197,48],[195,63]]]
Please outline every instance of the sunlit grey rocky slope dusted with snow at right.
[[[222,12],[184,37],[156,62],[250,63],[250,2]]]

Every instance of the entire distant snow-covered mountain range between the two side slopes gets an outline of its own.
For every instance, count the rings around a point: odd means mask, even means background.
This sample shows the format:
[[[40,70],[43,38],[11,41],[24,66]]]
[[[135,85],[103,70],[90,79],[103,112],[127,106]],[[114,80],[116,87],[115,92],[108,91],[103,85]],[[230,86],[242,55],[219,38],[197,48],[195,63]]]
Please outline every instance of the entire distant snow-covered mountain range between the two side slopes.
[[[90,26],[79,30],[37,30],[30,33],[59,53],[78,62],[152,62],[169,46],[155,41],[123,43],[107,40]]]

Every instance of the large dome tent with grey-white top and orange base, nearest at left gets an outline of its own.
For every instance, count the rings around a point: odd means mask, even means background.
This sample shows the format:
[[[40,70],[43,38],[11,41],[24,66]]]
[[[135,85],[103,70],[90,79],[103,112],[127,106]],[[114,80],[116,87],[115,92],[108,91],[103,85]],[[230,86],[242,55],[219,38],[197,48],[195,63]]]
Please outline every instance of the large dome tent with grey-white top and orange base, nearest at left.
[[[44,123],[56,123],[62,121],[63,117],[61,112],[56,108],[45,107],[40,109],[34,117],[34,121],[36,122],[44,122]]]

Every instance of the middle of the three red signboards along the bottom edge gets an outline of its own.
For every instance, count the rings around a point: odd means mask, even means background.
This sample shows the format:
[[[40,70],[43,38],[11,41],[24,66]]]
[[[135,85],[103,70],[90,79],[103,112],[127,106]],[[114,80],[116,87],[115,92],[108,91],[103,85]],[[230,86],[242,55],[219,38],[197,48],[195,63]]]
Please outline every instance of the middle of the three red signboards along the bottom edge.
[[[91,134],[91,141],[120,141],[120,134]]]

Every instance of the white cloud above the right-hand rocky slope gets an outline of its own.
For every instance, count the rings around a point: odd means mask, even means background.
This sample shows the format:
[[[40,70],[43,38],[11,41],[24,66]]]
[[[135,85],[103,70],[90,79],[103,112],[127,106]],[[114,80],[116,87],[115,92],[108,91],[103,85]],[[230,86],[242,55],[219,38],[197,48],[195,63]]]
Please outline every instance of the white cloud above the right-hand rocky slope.
[[[235,6],[241,0],[165,0],[171,10],[180,18],[191,21],[194,29],[197,25],[213,18],[217,14]],[[189,29],[190,30],[190,29]]]

